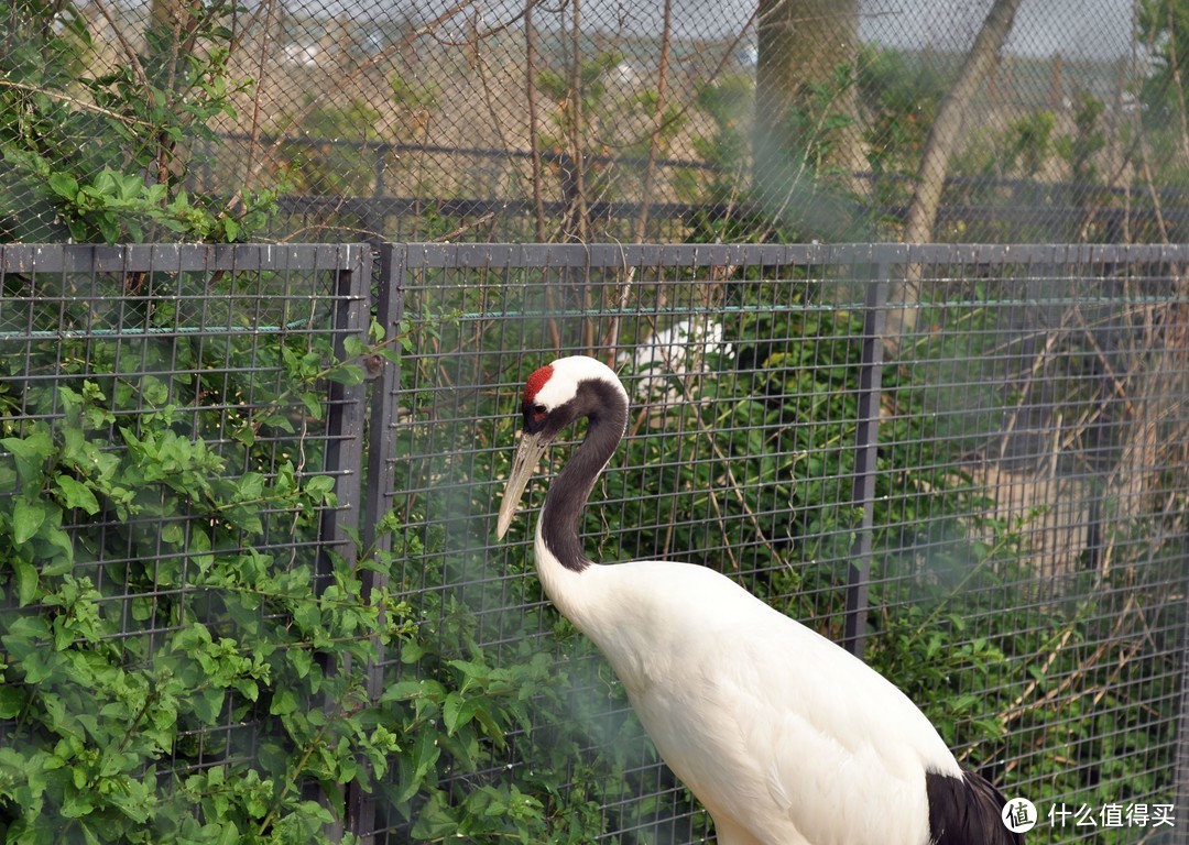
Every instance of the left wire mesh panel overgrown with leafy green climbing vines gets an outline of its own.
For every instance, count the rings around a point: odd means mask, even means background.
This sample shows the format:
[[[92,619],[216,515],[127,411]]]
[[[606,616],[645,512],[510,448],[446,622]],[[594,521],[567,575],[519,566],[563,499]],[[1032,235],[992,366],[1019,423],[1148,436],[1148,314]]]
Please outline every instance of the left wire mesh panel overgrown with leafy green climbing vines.
[[[24,796],[7,835],[213,835],[241,801],[264,818],[279,800],[260,784],[284,782],[290,711],[266,690],[326,657],[308,613],[356,549],[365,405],[346,349],[370,263],[0,248],[0,736]],[[251,788],[216,797],[245,769]]]

